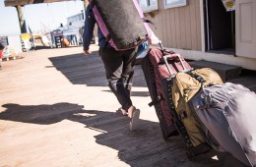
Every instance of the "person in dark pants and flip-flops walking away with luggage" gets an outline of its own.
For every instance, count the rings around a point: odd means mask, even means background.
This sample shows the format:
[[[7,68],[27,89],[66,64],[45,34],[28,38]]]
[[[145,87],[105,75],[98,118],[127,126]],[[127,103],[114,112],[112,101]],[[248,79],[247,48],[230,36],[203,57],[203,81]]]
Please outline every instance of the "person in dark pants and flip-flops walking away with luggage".
[[[86,10],[85,30],[83,34],[85,55],[92,53],[90,51],[90,45],[95,26],[96,19],[89,5]],[[109,43],[106,43],[106,38],[100,28],[97,29],[97,36],[99,45],[98,53],[104,65],[108,86],[120,103],[122,114],[130,117],[130,130],[134,131],[139,126],[140,110],[134,106],[130,95],[138,47],[116,51]],[[152,44],[158,44],[159,38],[153,33],[150,41]]]

